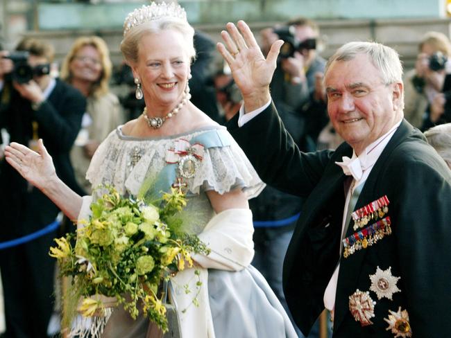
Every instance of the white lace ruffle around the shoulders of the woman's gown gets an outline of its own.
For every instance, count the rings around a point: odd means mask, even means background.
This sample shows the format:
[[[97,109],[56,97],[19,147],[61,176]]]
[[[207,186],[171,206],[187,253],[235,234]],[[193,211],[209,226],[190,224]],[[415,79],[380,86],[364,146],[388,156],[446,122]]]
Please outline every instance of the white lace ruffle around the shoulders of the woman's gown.
[[[184,134],[156,138],[135,138],[122,134],[121,126],[101,143],[92,158],[86,178],[92,186],[111,184],[119,193],[137,195],[146,179],[156,177],[167,165],[167,150],[176,139],[190,139],[225,127],[211,126]],[[189,193],[198,195],[206,190],[223,194],[241,187],[248,198],[257,196],[265,184],[258,177],[243,150],[232,139],[230,146],[208,148],[203,152],[194,177],[187,179]]]

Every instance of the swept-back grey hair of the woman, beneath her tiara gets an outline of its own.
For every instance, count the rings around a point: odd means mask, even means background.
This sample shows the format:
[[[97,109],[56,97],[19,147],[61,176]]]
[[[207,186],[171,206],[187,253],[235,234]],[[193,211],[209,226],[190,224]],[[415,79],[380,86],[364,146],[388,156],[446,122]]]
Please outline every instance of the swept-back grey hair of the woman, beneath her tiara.
[[[178,33],[181,33],[183,41],[185,41],[186,44],[187,56],[191,61],[194,61],[194,58],[196,57],[196,49],[194,48],[194,28],[192,28],[187,21],[171,17],[149,21],[130,29],[121,41],[121,52],[126,58],[126,61],[137,62],[139,42],[144,35],[160,33],[162,30],[176,30]]]

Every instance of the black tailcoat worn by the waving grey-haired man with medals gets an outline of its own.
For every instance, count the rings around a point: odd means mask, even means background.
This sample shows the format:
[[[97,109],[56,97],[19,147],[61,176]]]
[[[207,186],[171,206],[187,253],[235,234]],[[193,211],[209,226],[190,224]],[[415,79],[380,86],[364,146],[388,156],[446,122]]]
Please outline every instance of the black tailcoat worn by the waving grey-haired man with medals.
[[[229,130],[260,177],[293,195],[308,196],[284,261],[284,293],[299,328],[307,334],[324,308],[323,295],[339,262],[345,175],[335,161],[351,157],[346,143],[335,152],[303,153],[271,105],[241,128]],[[391,235],[341,258],[334,309],[334,337],[394,337],[389,310],[407,310],[414,337],[451,332],[451,170],[402,121],[364,184],[355,209],[386,195]],[[369,224],[368,224],[369,225]],[[354,233],[352,224],[347,236]],[[393,300],[377,299],[370,275],[391,267],[400,277]],[[349,310],[356,290],[376,302],[372,325],[361,327]],[[401,337],[401,336],[400,336]]]

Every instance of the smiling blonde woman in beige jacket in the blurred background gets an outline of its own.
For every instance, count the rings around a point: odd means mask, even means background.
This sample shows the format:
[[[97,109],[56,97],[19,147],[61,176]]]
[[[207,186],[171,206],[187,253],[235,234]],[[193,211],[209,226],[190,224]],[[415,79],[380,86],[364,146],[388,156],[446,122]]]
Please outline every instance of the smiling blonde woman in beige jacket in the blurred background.
[[[61,78],[87,98],[82,129],[71,151],[71,162],[81,188],[91,191],[85,179],[94,152],[112,130],[124,122],[119,99],[110,92],[110,52],[100,37],[79,37],[61,67]]]

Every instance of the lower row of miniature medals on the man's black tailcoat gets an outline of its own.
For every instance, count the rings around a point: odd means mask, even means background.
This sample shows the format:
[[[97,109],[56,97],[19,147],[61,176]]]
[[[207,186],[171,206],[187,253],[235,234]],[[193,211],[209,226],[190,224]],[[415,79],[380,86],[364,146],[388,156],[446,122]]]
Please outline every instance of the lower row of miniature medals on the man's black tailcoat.
[[[371,245],[375,244],[378,240],[382,240],[385,235],[390,235],[390,225],[391,220],[390,217],[387,216],[343,239],[343,257],[348,258],[352,253],[355,253],[355,251],[366,249],[368,246],[371,247]]]

